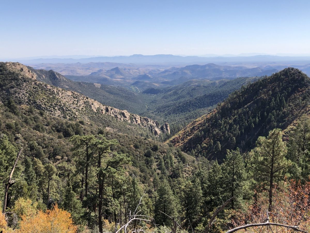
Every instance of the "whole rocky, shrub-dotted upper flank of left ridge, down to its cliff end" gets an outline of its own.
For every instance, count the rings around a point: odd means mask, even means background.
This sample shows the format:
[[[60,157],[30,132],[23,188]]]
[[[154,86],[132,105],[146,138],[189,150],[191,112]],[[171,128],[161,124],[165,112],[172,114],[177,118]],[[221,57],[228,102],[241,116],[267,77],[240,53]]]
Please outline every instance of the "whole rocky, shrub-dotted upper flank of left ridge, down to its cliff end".
[[[53,116],[66,119],[90,121],[93,117],[99,117],[103,122],[121,121],[129,123],[130,126],[146,128],[154,135],[159,135],[161,132],[158,123],[147,117],[140,117],[126,110],[103,105],[74,91],[48,85],[47,83],[57,83],[63,86],[66,82],[72,82],[54,71],[34,71],[31,67],[20,63],[2,62],[0,63],[0,75],[2,100],[12,98],[19,104],[32,105]]]

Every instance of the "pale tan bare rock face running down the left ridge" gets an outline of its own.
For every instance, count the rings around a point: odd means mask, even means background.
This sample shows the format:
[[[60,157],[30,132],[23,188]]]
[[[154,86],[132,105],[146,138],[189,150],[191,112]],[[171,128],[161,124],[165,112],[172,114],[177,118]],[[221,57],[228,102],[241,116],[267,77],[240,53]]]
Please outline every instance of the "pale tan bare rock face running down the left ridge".
[[[38,73],[37,70],[34,70],[32,67],[24,66],[18,62],[6,62],[5,65],[11,71],[19,73],[21,76],[31,78],[33,83],[24,84],[29,86],[24,86],[23,92],[20,90],[12,90],[16,95],[19,95],[23,102],[29,104],[29,99],[31,99],[28,90],[32,90],[34,87],[40,86],[41,80],[46,77],[46,75],[42,75]],[[54,71],[44,71],[49,73],[49,79],[51,80],[64,80],[66,78]],[[38,85],[36,85],[38,84]],[[55,116],[63,117],[63,112],[73,112],[74,115],[78,117],[87,117],[87,112],[100,113],[104,115],[109,115],[111,117],[115,117],[118,121],[128,122],[134,125],[138,125],[144,128],[148,128],[151,130],[154,135],[158,136],[161,133],[161,127],[156,122],[147,117],[140,117],[139,115],[132,114],[127,112],[126,110],[120,110],[117,108],[113,108],[110,106],[106,106],[101,104],[100,102],[87,98],[86,96],[79,94],[74,91],[64,90],[52,85],[44,84],[42,89],[33,90],[33,92],[39,94],[41,92],[42,95],[47,96],[48,98],[58,99],[57,105],[48,106],[50,103],[44,101],[44,98],[38,98],[36,103],[31,103],[38,109],[49,109]],[[166,124],[165,124],[166,125]],[[168,125],[168,124],[167,124]],[[169,125],[168,127],[164,127],[165,130],[170,132]]]

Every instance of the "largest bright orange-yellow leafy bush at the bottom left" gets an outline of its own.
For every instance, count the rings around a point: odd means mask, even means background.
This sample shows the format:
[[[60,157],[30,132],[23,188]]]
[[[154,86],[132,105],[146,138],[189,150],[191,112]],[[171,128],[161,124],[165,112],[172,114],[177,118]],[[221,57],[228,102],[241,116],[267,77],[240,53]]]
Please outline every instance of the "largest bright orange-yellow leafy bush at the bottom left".
[[[73,225],[69,212],[55,205],[53,210],[46,213],[39,211],[34,216],[23,216],[18,233],[75,233],[77,226]]]

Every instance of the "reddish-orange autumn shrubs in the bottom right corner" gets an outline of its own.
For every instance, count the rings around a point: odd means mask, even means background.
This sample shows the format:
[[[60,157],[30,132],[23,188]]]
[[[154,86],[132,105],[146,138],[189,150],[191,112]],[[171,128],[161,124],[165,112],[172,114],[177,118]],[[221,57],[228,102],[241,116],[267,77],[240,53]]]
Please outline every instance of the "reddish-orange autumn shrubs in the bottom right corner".
[[[269,213],[270,222],[290,226],[298,226],[303,231],[310,231],[310,182],[302,185],[291,181],[284,188],[275,188],[273,209]],[[268,211],[268,194],[255,195],[254,202],[246,212],[235,212],[233,225],[242,226],[250,223],[266,222]],[[265,228],[265,229],[264,229]],[[253,227],[251,232],[292,232],[291,229],[280,226]],[[245,230],[241,230],[245,231]]]

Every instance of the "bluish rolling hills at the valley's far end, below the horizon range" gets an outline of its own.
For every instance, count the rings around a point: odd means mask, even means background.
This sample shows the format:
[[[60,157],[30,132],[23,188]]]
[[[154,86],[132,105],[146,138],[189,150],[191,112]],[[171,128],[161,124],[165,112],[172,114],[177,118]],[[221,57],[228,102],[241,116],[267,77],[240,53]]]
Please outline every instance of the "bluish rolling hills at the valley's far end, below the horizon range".
[[[95,63],[93,63],[95,64]],[[239,77],[260,77],[279,71],[272,66],[267,68],[248,68],[246,66],[220,66],[213,63],[206,65],[189,65],[163,69],[144,69],[135,67],[114,67],[98,69],[89,75],[67,76],[74,81],[114,85],[130,88],[134,86],[139,91],[149,88],[159,88],[182,84],[188,80],[219,80]]]

